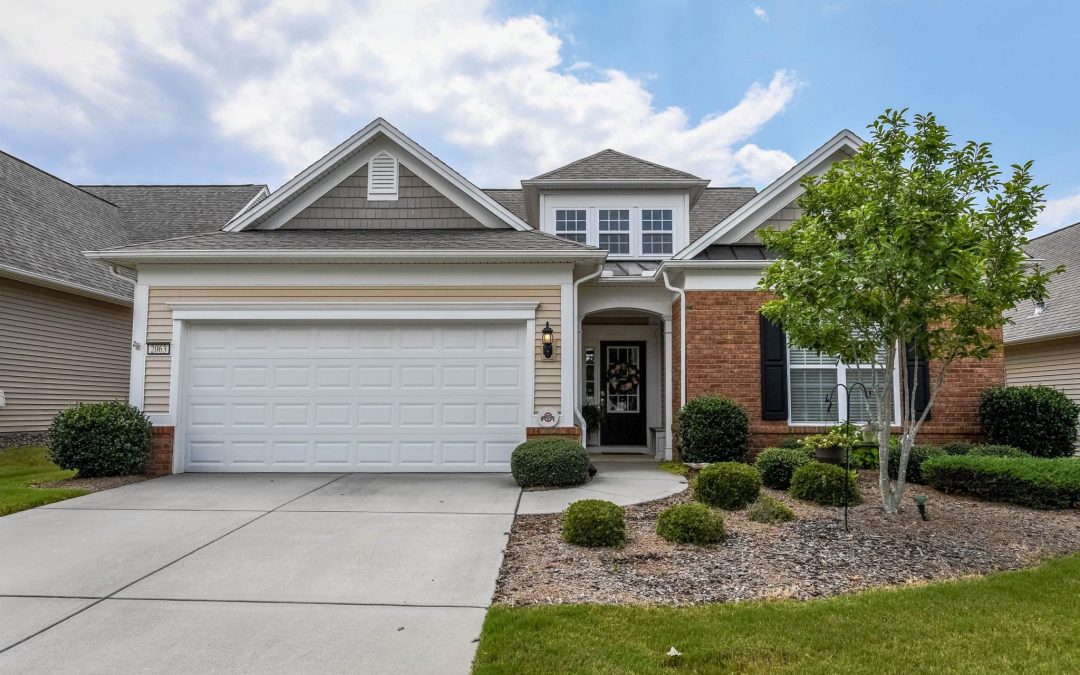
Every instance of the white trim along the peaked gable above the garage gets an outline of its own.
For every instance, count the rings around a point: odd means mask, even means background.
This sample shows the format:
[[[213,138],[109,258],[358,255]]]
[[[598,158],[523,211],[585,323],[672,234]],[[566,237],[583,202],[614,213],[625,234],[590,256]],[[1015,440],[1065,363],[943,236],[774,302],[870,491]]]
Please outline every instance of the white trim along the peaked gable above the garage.
[[[273,192],[270,197],[259,202],[254,208],[248,213],[241,214],[239,217],[231,220],[225,226],[225,230],[228,232],[235,232],[239,230],[245,230],[251,227],[256,220],[266,216],[268,213],[273,211],[278,204],[284,202],[294,193],[303,190],[312,181],[319,179],[326,168],[334,166],[338,162],[348,158],[357,148],[364,146],[365,144],[373,140],[377,135],[383,135],[393,143],[402,146],[405,150],[411,152],[423,162],[429,168],[434,171],[436,174],[454,184],[462,192],[471,197],[473,200],[478,202],[482,206],[486,207],[492,214],[497,215],[507,225],[514,228],[515,230],[530,230],[530,228],[525,221],[512,214],[505,206],[488,197],[486,192],[481,190],[478,187],[465,179],[464,176],[458,172],[450,168],[445,162],[440,160],[437,157],[426,150],[415,140],[396,130],[389,122],[382,118],[376,118],[367,126],[360,130],[351,137],[349,137],[345,143],[334,148],[327,152],[322,159],[311,164],[299,174],[294,176],[288,183],[283,185],[280,189]]]

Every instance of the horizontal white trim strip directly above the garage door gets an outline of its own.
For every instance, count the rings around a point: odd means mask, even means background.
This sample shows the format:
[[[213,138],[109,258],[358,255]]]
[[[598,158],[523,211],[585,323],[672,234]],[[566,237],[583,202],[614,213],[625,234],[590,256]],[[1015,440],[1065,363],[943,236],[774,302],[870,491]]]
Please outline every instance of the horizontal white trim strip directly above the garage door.
[[[527,321],[537,302],[170,302],[174,321]]]

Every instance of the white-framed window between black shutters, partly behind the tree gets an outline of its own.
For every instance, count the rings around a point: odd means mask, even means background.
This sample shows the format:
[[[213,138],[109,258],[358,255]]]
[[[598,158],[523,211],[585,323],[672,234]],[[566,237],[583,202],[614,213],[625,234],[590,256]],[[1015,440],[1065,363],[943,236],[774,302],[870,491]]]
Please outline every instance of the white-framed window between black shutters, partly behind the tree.
[[[885,353],[879,354],[885,359]],[[797,347],[787,349],[788,415],[793,424],[836,424],[842,421],[867,422],[877,418],[877,391],[881,374],[868,364],[845,364],[832,356]],[[877,379],[877,382],[875,382]],[[847,394],[837,384],[852,387],[861,382],[870,393],[854,387],[851,391],[851,419],[847,419]],[[893,378],[892,419],[899,417],[900,378]],[[831,399],[829,406],[826,399]]]

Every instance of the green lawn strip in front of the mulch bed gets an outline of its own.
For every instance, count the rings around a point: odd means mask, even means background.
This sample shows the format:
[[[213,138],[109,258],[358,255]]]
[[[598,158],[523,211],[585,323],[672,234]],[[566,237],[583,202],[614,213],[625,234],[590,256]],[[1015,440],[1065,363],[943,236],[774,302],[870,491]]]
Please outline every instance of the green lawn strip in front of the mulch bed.
[[[492,607],[476,673],[1076,673],[1080,555],[809,602]],[[675,646],[680,663],[664,657]]]

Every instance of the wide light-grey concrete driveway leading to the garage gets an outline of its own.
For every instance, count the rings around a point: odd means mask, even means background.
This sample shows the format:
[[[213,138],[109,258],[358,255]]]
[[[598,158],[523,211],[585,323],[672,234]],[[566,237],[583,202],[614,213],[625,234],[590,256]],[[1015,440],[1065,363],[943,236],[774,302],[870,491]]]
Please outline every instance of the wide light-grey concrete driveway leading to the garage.
[[[0,672],[467,673],[505,474],[181,474],[0,518]]]

